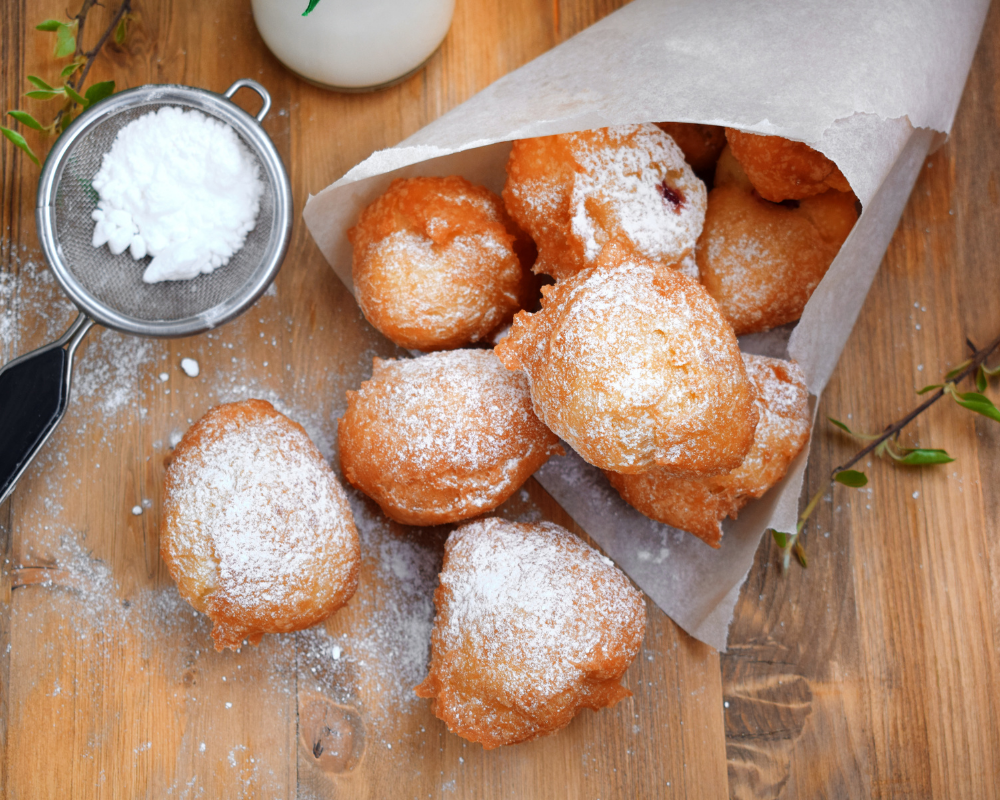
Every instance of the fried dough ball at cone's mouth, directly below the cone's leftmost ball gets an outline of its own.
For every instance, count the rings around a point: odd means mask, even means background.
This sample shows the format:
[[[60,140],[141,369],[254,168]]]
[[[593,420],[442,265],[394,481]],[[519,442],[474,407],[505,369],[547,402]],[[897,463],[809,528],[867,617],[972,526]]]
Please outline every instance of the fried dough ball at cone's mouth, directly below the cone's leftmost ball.
[[[406,525],[492,511],[563,452],[491,350],[376,358],[338,431],[344,476]]]

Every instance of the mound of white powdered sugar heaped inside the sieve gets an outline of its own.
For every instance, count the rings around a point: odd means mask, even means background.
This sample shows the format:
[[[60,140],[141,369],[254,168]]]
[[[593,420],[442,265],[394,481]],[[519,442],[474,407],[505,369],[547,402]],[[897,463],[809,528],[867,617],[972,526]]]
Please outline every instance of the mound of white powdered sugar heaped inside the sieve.
[[[229,263],[256,224],[264,184],[236,131],[166,106],[122,128],[92,181],[94,247],[153,256],[146,283]]]

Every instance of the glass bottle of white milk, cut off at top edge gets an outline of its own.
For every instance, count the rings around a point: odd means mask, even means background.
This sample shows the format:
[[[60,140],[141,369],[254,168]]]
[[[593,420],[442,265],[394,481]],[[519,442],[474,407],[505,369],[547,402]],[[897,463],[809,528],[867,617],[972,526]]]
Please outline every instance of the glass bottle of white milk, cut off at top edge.
[[[424,65],[448,33],[455,0],[252,0],[271,52],[311,83],[388,86]]]

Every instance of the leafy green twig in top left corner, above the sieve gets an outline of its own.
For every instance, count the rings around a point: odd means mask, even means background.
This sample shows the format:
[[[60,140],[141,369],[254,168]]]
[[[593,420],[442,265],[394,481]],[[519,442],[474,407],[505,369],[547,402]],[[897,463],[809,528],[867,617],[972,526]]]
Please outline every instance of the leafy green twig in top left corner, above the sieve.
[[[71,58],[71,60],[63,67],[59,73],[59,80],[54,84],[50,84],[37,75],[28,76],[28,83],[33,88],[24,93],[25,97],[33,100],[61,100],[62,107],[52,121],[44,125],[27,111],[15,109],[7,112],[8,116],[17,120],[24,127],[47,134],[62,133],[81,111],[114,92],[114,81],[101,81],[86,90],[84,90],[83,85],[104,45],[109,40],[113,40],[118,45],[125,41],[129,24],[134,19],[131,13],[132,0],[122,0],[122,4],[115,12],[108,27],[101,34],[97,44],[90,50],[84,50],[83,35],[87,26],[87,16],[96,5],[99,5],[98,0],[84,0],[79,13],[70,18],[68,22],[47,19],[35,26],[37,30],[56,35],[52,53],[56,58]],[[0,125],[0,135],[12,142],[15,147],[23,150],[35,164],[39,163],[38,156],[20,133]]]

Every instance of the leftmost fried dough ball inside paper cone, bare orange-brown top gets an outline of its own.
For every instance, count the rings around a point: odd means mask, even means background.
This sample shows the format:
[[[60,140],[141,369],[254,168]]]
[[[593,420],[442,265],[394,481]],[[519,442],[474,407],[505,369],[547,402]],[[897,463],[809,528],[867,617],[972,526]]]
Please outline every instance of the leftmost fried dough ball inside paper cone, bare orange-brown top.
[[[534,244],[499,197],[457,175],[393,181],[347,235],[358,305],[401,347],[478,342],[537,294]]]

